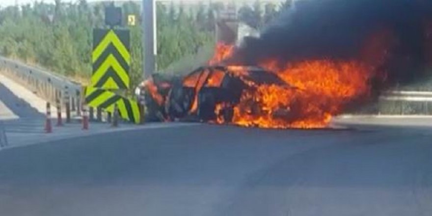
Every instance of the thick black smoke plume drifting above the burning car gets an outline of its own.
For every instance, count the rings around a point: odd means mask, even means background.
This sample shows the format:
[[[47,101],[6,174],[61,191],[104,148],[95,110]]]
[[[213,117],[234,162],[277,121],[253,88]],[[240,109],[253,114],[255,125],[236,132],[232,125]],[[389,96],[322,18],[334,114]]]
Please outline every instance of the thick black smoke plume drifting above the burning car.
[[[390,81],[410,81],[424,71],[430,21],[432,0],[297,0],[259,38],[247,38],[231,61],[356,59],[370,35],[388,29],[397,46],[383,67]]]

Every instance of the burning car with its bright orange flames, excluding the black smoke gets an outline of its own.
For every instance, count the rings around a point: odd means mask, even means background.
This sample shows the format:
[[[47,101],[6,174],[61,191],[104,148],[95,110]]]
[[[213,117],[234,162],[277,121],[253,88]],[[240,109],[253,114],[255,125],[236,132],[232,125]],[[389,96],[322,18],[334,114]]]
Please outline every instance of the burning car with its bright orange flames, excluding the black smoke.
[[[370,92],[372,75],[361,61],[281,65],[270,59],[258,66],[218,66],[233,50],[218,44],[209,66],[183,77],[155,74],[142,82],[136,94],[146,105],[146,120],[318,129]]]

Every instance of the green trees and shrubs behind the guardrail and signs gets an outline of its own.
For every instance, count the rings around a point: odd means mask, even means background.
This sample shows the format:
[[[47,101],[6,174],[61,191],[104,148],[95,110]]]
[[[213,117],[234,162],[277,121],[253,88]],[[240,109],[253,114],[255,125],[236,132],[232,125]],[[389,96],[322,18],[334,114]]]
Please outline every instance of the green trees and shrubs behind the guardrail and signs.
[[[104,7],[108,4],[35,2],[23,6],[0,8],[0,54],[47,68],[66,77],[86,82],[91,75],[92,28],[104,27]],[[239,18],[259,28],[274,18],[280,6],[256,1],[237,5]],[[124,21],[136,16],[131,30],[133,86],[141,80],[142,46],[139,1],[118,3]],[[195,61],[204,62],[215,45],[215,12],[222,3],[183,5],[157,3],[159,71],[174,73],[189,69]],[[196,56],[199,55],[199,59]]]

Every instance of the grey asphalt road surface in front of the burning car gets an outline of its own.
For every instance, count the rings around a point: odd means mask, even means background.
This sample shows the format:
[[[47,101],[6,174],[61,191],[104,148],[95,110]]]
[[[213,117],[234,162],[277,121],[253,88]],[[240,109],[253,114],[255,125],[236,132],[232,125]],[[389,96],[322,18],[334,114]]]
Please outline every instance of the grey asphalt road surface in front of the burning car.
[[[0,215],[429,216],[432,128],[142,129],[0,151]]]

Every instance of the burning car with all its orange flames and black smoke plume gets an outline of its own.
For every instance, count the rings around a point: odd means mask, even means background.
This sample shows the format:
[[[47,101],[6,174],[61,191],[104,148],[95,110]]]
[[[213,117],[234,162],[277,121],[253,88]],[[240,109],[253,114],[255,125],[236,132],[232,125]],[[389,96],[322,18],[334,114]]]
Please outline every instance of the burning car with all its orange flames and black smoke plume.
[[[352,2],[305,1],[239,47],[218,42],[210,66],[185,77],[153,76],[139,90],[147,120],[326,128],[380,91],[424,77],[424,61],[432,61],[429,1]]]

